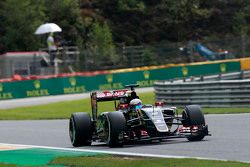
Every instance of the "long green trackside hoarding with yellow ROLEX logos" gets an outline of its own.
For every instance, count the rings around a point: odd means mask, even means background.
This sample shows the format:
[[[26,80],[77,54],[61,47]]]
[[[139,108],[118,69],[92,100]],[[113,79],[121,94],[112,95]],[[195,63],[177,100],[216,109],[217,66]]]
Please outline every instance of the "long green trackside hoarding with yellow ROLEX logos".
[[[156,80],[240,71],[241,64],[242,61],[240,60],[231,60],[115,70],[109,71],[107,74],[91,76],[76,75],[39,80],[0,82],[0,100],[75,94],[93,90],[122,89],[124,85],[131,83],[137,83],[141,87],[149,87]]]

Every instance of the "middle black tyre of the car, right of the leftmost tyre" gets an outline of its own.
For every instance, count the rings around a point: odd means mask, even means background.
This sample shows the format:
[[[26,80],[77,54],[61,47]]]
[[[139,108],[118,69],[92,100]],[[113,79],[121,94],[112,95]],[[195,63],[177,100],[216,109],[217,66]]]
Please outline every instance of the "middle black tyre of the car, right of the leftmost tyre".
[[[121,147],[124,143],[124,132],[126,120],[121,112],[110,112],[106,114],[106,143],[109,147]]]

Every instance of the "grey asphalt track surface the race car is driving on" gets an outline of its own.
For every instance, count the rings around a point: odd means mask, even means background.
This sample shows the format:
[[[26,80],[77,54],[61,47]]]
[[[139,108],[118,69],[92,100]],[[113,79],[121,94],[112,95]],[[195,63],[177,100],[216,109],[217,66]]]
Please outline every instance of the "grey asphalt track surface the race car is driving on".
[[[206,115],[212,136],[200,142],[171,139],[109,148],[103,143],[78,149],[188,156],[250,162],[250,114]],[[68,120],[0,121],[0,143],[73,148]]]

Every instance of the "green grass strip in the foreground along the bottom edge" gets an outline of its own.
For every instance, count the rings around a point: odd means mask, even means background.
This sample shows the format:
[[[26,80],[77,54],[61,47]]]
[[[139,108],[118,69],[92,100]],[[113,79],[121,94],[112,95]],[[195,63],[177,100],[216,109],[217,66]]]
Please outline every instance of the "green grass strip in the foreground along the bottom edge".
[[[248,167],[248,163],[174,158],[138,158],[119,156],[60,157],[51,162],[54,165],[82,167]]]

